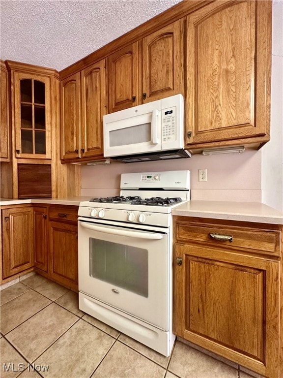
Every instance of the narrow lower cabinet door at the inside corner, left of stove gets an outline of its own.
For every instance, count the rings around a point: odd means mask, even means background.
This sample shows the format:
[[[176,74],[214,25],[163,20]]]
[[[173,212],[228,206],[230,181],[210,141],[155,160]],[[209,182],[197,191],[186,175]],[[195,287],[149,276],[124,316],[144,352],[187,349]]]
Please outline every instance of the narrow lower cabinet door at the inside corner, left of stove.
[[[47,272],[47,208],[33,208],[34,224],[34,266]]]

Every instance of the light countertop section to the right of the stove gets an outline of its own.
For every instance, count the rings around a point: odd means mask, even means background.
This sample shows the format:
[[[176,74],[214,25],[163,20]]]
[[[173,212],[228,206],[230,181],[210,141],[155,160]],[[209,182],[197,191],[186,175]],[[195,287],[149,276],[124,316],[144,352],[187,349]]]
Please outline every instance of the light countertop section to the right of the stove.
[[[188,201],[172,209],[172,215],[283,224],[283,213],[260,202]]]

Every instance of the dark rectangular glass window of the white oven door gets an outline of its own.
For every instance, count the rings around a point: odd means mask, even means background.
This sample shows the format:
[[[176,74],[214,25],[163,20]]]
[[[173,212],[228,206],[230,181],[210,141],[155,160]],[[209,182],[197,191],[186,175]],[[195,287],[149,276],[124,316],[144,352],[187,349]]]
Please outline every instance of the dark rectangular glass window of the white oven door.
[[[89,275],[148,297],[148,251],[89,238]]]

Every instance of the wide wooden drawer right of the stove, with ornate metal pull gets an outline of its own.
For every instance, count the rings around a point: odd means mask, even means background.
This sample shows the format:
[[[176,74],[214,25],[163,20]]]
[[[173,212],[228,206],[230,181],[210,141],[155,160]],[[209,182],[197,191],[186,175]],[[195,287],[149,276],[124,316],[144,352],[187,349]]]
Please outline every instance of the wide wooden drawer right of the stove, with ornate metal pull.
[[[224,240],[222,240],[224,239]],[[280,256],[280,231],[237,226],[196,225],[176,221],[178,242],[200,242],[214,248]]]

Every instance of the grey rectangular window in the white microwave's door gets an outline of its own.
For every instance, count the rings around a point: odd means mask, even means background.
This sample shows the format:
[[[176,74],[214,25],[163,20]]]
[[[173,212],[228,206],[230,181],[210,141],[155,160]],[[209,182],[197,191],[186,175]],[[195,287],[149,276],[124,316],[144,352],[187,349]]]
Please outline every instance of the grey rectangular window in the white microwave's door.
[[[110,147],[126,146],[151,141],[151,124],[119,128],[109,132]]]

